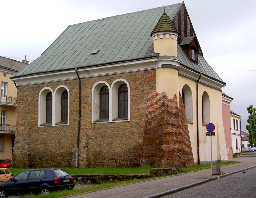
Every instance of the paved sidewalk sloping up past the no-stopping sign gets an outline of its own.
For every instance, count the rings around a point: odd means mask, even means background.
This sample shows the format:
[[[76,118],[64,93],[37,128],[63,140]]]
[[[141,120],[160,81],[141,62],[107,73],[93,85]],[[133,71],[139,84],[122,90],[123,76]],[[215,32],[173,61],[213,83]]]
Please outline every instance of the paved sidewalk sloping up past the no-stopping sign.
[[[82,193],[79,195],[73,195],[72,197],[162,197],[167,194],[209,182],[211,180],[217,179],[218,177],[225,177],[230,174],[241,172],[242,170],[256,167],[256,157],[237,157],[233,158],[233,161],[240,161],[241,163],[220,167],[220,170],[225,173],[222,175],[211,175],[211,169],[205,169],[182,175],[174,175],[124,186],[118,186],[105,190]]]

